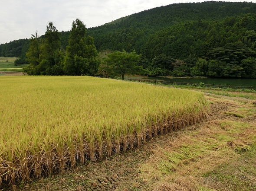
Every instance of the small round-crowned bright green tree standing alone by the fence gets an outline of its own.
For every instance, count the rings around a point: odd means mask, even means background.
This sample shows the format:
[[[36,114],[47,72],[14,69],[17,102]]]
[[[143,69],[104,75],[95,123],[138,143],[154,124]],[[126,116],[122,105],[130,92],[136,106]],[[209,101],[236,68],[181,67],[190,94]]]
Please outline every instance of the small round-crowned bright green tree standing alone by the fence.
[[[141,55],[136,54],[135,51],[131,53],[123,51],[114,51],[105,58],[105,69],[110,71],[111,75],[122,76],[124,80],[125,74],[135,74],[142,70],[141,66],[138,66]]]

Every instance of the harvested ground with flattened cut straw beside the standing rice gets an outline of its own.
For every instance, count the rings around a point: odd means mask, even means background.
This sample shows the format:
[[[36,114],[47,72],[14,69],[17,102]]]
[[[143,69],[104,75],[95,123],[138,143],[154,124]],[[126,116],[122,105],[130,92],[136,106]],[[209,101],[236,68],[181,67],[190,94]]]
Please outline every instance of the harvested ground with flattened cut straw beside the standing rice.
[[[256,190],[256,107],[240,98],[206,97],[208,121],[13,189]]]

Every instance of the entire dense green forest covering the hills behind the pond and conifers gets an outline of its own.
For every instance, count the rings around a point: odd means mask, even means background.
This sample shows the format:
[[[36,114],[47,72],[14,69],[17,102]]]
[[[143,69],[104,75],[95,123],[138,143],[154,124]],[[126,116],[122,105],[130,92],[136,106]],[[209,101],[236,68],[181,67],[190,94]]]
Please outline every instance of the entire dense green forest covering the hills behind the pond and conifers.
[[[172,4],[87,33],[98,52],[136,50],[142,75],[256,78],[256,3]],[[63,50],[69,34],[59,32]],[[0,56],[20,57],[23,64],[28,48],[28,39],[12,41],[0,45]]]

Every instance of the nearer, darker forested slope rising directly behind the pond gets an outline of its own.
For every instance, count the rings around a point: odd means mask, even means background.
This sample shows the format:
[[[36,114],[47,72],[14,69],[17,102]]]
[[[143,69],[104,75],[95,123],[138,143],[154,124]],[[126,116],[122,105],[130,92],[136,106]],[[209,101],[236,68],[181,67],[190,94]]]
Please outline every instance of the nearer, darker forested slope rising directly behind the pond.
[[[243,61],[242,64],[242,60],[256,57],[255,20],[256,14],[247,14],[224,21],[191,21],[172,25],[148,38],[144,56],[154,60],[155,55],[164,54],[184,60],[185,64],[173,67],[173,76],[254,78],[254,69],[249,71],[250,67],[254,68],[253,61],[247,64]]]

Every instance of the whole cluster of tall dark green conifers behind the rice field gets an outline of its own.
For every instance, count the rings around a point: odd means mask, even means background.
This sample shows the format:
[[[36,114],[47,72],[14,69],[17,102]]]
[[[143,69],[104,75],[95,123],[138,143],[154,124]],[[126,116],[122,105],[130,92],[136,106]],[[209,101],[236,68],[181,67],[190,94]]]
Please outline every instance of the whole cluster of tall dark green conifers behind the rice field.
[[[93,38],[85,36],[86,28],[82,21],[76,19],[73,22],[66,52],[61,47],[59,34],[49,22],[42,38],[37,33],[32,35],[26,53],[26,61],[30,65],[23,71],[29,75],[93,75],[98,70],[98,53]]]

